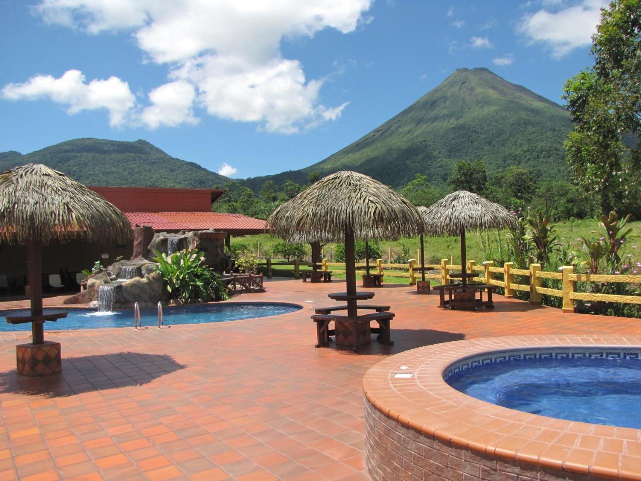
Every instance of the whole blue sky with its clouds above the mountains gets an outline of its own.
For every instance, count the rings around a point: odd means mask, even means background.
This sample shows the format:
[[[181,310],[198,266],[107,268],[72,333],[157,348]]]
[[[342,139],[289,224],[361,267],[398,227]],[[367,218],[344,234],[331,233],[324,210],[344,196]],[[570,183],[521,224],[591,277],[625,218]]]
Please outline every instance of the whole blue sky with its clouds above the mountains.
[[[0,0],[0,151],[145,139],[239,178],[299,169],[460,67],[560,103],[605,3]]]

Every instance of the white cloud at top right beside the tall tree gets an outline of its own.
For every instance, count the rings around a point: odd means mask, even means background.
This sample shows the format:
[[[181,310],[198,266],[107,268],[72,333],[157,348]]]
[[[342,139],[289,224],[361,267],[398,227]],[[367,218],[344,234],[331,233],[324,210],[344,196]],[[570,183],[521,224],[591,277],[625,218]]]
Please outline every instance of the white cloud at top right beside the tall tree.
[[[517,31],[531,43],[544,44],[554,58],[562,58],[572,50],[592,44],[592,34],[601,20],[601,7],[606,0],[581,0],[556,12],[538,10],[522,18]],[[554,6],[559,1],[548,0]]]

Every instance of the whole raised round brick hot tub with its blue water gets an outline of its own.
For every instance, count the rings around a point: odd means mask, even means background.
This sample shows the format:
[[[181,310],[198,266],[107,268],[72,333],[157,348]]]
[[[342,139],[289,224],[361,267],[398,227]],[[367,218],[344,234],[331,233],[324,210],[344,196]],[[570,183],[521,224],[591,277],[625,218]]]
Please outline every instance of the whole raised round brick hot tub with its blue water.
[[[640,366],[632,336],[475,339],[394,355],[363,379],[370,475],[641,480]]]

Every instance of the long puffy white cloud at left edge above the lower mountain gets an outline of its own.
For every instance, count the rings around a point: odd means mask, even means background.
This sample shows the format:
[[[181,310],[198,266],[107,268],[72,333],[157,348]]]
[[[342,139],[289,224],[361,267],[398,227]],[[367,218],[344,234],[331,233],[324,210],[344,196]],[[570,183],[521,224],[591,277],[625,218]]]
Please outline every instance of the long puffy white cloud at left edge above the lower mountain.
[[[67,105],[69,114],[104,108],[109,112],[112,127],[122,126],[135,106],[135,97],[127,82],[110,77],[86,83],[85,76],[79,70],[69,70],[60,78],[37,75],[24,83],[9,83],[4,86],[1,94],[9,100],[46,98]]]

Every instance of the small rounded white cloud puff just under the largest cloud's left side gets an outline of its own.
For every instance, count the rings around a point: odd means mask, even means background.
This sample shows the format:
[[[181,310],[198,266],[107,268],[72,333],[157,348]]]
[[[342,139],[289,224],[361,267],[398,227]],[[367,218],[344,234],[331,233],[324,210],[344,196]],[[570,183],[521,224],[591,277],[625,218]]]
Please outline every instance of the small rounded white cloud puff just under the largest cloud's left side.
[[[149,128],[160,126],[177,126],[183,123],[196,125],[198,119],[194,117],[194,98],[196,90],[190,83],[174,81],[165,83],[149,92],[148,106],[140,114],[140,120]]]

